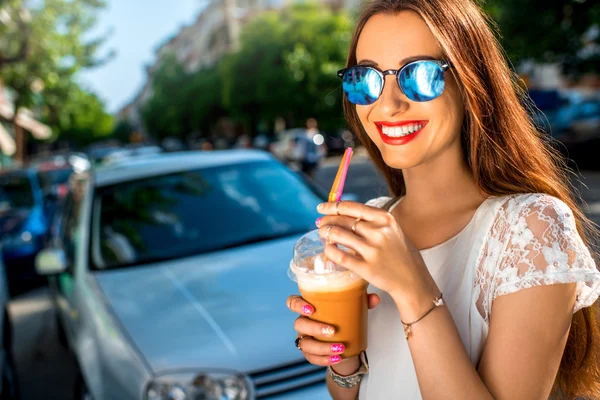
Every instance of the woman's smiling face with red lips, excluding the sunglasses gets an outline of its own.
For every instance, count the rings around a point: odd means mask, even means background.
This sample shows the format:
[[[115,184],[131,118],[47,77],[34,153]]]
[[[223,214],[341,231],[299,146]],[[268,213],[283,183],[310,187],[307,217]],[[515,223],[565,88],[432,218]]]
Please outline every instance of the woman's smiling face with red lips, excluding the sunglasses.
[[[380,71],[400,69],[407,60],[433,57],[442,60],[437,40],[413,11],[397,14],[377,14],[364,26],[356,49],[360,65]],[[452,74],[444,74],[446,85],[441,96],[427,102],[409,100],[398,87],[396,76],[386,75],[383,92],[377,101],[356,106],[365,131],[379,148],[387,165],[396,169],[413,168],[430,162],[444,152],[461,156],[460,131],[463,122],[463,102]],[[390,138],[399,130],[424,127],[411,140]],[[391,131],[390,131],[391,129]]]

